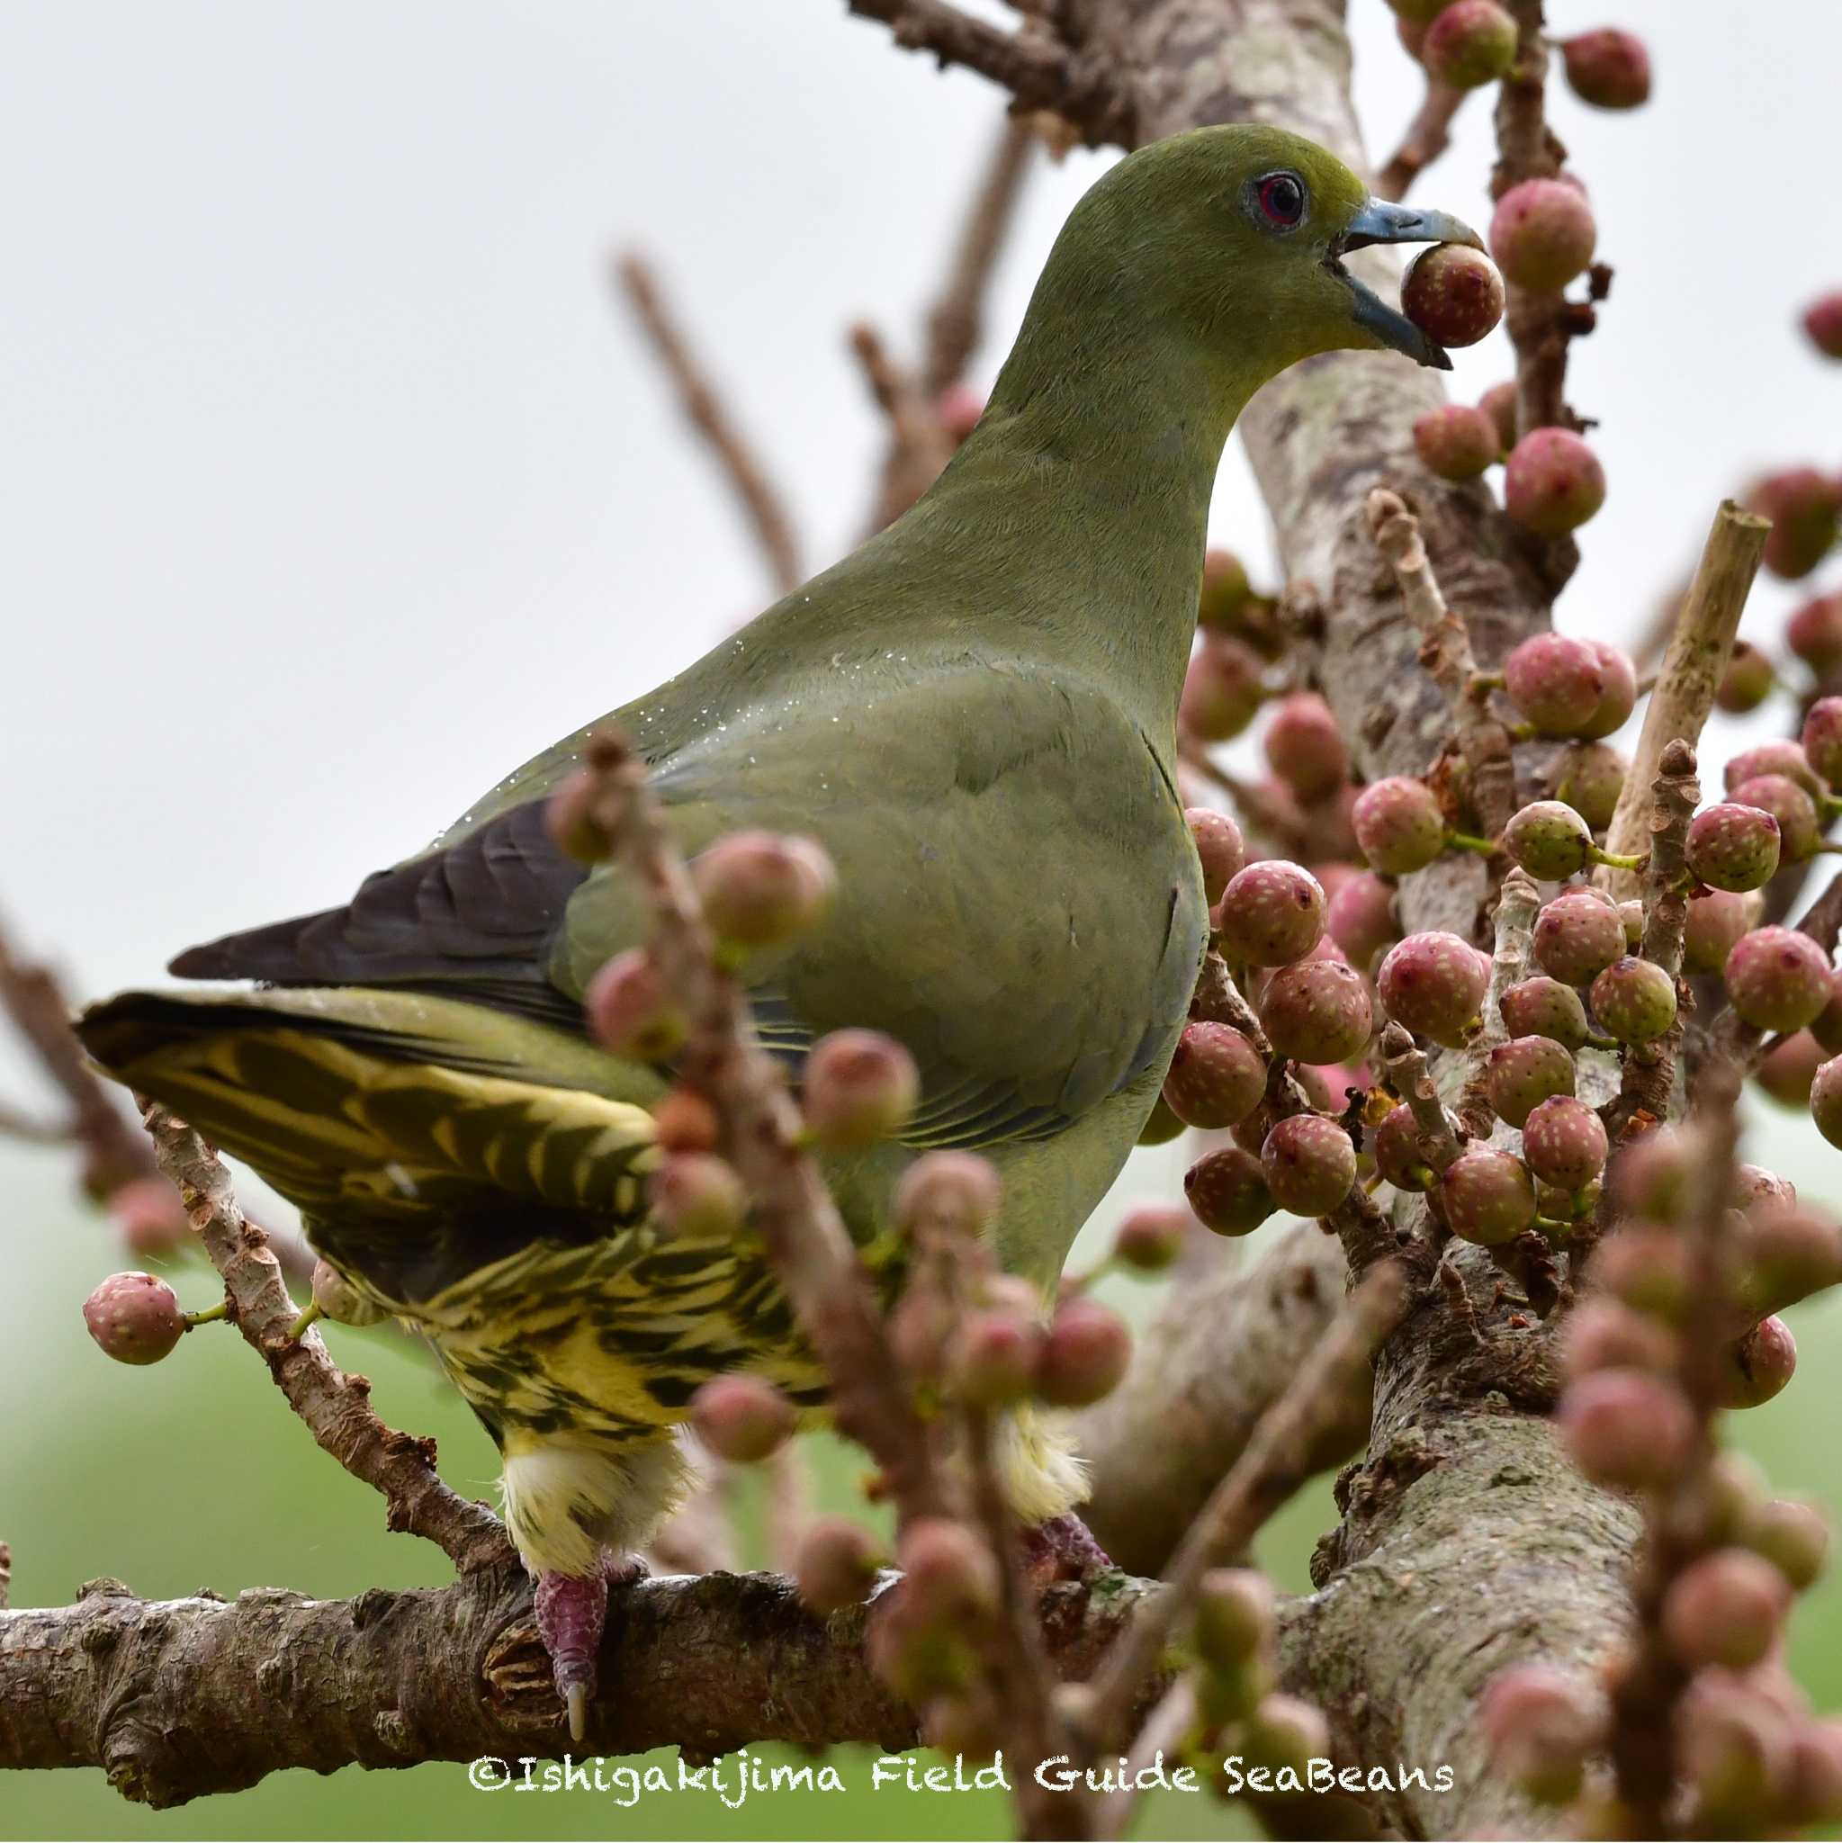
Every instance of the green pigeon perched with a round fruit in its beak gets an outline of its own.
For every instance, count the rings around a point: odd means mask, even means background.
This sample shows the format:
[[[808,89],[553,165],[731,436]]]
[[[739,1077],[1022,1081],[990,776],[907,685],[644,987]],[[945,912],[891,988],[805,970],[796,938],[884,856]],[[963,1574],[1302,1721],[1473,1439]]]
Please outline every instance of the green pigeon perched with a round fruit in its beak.
[[[919,1067],[901,1143],[829,1170],[862,1246],[892,1240],[903,1161],[974,1150],[1002,1178],[1002,1264],[1046,1292],[1118,1176],[1208,934],[1177,695],[1221,448],[1312,354],[1448,365],[1341,262],[1416,241],[1481,247],[1297,135],[1208,127],[1129,155],[1070,214],[927,496],[597,719],[648,763],[687,855],[739,828],[831,855],[823,923],[748,979],[790,1065],[858,1025]],[[131,992],[81,1019],[105,1069],[254,1165],[341,1275],[431,1340],[503,1456],[577,1727],[608,1557],[674,1502],[693,1391],[752,1369],[823,1399],[759,1250],[648,1220],[670,1071],[599,1049],[582,1012],[645,905],[545,828],[588,734],[344,907],[171,966],[252,988]],[[1067,1438],[1028,1412],[1004,1480],[1028,1522],[1083,1497]]]

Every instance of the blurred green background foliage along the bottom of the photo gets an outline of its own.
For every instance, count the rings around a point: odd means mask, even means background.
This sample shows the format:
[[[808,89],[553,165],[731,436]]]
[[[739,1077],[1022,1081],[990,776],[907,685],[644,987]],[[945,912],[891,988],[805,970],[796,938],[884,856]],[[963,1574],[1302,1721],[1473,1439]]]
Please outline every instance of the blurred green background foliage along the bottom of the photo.
[[[1824,1150],[1809,1132],[1754,1133],[1770,1159],[1814,1196],[1827,1189]],[[1807,1122],[1805,1122],[1807,1124]],[[1833,1154],[1829,1154],[1833,1157]],[[1809,1167],[1809,1168],[1805,1168]],[[81,1581],[118,1576],[136,1592],[173,1596],[210,1587],[286,1585],[343,1596],[365,1587],[438,1585],[442,1555],[392,1537],[379,1500],[321,1456],[236,1334],[223,1325],[188,1338],[166,1364],[127,1369],[90,1345],[79,1305],[105,1272],[133,1264],[105,1224],[74,1198],[68,1159],[0,1148],[7,1198],[7,1285],[0,1288],[0,1535],[13,1544],[13,1603],[57,1605]],[[1142,1185],[1142,1178],[1140,1178]],[[254,1189],[251,1196],[254,1198]],[[252,1202],[252,1213],[260,1207]],[[1098,1253],[1107,1209],[1078,1259]],[[199,1264],[171,1270],[188,1305],[216,1297]],[[1116,1294],[1135,1314],[1149,1288]],[[1733,1419],[1737,1443],[1783,1491],[1835,1500],[1829,1403],[1842,1386],[1836,1309],[1794,1314],[1801,1368],[1776,1403]],[[495,1456],[484,1434],[411,1351],[374,1332],[330,1327],[341,1362],[376,1384],[394,1426],[440,1439],[442,1471],[488,1497]],[[822,1443],[822,1495],[844,1506],[862,1471]],[[1328,1480],[1275,1520],[1262,1559],[1286,1589],[1310,1585],[1312,1543],[1334,1522]],[[1842,1705],[1842,1589],[1827,1579],[1803,1603],[1792,1638],[1798,1675],[1822,1707]],[[669,1753],[648,1756],[674,1771]],[[777,1762],[788,1756],[763,1753]],[[634,1810],[593,1791],[473,1791],[462,1766],[400,1773],[348,1769],[330,1778],[284,1773],[262,1786],[149,1812],[116,1797],[99,1771],[0,1777],[0,1837],[1002,1837],[997,1793],[871,1790],[873,1755],[833,1756],[844,1793],[772,1793],[726,1810],[711,1793],[648,1795]],[[1242,1815],[1207,1795],[1149,1799],[1140,1834],[1240,1837]]]

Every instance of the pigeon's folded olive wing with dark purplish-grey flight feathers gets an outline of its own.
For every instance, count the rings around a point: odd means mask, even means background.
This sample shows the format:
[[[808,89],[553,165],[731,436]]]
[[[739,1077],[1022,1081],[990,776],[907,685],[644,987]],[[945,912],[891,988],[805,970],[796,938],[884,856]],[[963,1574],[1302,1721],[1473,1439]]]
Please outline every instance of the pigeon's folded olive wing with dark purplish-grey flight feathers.
[[[838,866],[818,933],[750,971],[764,1043],[796,1060],[844,1025],[901,1038],[923,1074],[904,1137],[925,1146],[1046,1137],[1138,1074],[1188,1003],[1203,916],[1175,792],[1131,724],[985,662],[801,711],[742,713],[652,776],[691,855],[763,826],[818,837]],[[565,859],[525,798],[344,909],[173,971],[411,986],[580,1032],[589,977],[643,933],[630,879]]]

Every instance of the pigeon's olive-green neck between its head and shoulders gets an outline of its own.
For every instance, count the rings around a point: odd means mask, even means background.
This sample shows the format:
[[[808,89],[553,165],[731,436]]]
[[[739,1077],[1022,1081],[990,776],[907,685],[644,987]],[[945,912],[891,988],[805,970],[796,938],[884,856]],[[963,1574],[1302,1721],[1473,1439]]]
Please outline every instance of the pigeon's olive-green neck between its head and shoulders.
[[[1105,686],[1170,765],[1208,501],[1260,380],[1142,328],[1096,339],[1092,321],[1083,337],[1032,321],[978,428],[886,542],[945,568],[987,641]]]

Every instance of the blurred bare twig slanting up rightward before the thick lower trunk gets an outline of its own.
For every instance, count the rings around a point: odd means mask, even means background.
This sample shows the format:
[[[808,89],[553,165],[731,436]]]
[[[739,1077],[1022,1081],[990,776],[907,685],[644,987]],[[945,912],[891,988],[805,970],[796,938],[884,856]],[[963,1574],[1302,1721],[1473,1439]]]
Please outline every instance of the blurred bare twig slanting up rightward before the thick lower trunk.
[[[1166,1570],[1170,1589],[1140,1609],[1094,1675],[1096,1751],[1105,1751],[1122,1732],[1140,1685],[1195,1603],[1203,1576],[1242,1555],[1262,1524],[1304,1482],[1304,1454],[1312,1450],[1334,1399],[1367,1368],[1404,1307],[1400,1270],[1393,1264],[1372,1268],[1291,1388],[1262,1417],[1177,1546]]]

